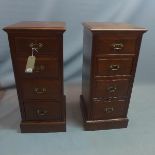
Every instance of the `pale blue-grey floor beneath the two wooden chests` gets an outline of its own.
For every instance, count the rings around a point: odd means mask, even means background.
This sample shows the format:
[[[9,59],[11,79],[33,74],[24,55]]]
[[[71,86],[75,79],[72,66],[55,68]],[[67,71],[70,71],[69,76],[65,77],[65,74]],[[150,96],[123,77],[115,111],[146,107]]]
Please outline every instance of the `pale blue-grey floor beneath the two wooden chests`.
[[[0,92],[0,155],[154,155],[155,85],[135,85],[127,129],[84,131],[80,85],[65,86],[67,132],[21,134],[15,89]]]

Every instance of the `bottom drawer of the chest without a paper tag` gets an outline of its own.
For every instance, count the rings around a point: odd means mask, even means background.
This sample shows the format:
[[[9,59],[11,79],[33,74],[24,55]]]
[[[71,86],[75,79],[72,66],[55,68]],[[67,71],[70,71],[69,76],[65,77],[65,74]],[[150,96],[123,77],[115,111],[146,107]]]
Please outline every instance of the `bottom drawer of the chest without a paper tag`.
[[[94,119],[113,119],[125,117],[127,103],[125,100],[106,99],[93,101]]]

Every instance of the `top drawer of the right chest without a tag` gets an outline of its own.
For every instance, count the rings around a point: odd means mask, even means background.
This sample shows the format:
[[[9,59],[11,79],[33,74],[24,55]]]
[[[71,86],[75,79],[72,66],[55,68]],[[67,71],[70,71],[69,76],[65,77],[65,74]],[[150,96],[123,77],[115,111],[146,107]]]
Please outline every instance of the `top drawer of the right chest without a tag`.
[[[99,35],[95,38],[97,54],[135,54],[136,36]]]

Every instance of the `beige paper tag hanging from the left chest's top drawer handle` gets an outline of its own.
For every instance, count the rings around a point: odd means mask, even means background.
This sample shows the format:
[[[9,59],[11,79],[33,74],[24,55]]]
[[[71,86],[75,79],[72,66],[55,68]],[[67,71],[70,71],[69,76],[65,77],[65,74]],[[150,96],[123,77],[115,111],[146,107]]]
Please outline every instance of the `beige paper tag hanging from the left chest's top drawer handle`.
[[[32,73],[33,72],[34,65],[35,65],[35,60],[36,60],[35,56],[29,56],[28,57],[27,64],[26,64],[26,69],[25,69],[26,73]]]

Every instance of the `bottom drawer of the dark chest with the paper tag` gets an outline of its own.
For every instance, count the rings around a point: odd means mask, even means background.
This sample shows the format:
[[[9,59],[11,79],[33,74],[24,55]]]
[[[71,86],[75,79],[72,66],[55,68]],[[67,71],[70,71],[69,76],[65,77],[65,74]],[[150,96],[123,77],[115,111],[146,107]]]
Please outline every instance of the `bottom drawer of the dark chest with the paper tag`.
[[[60,102],[53,101],[36,101],[24,103],[26,120],[60,120],[61,119],[61,106]]]

